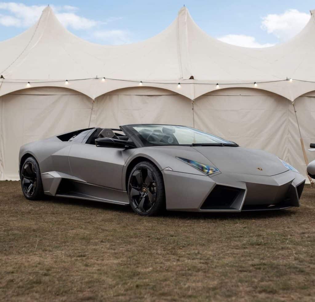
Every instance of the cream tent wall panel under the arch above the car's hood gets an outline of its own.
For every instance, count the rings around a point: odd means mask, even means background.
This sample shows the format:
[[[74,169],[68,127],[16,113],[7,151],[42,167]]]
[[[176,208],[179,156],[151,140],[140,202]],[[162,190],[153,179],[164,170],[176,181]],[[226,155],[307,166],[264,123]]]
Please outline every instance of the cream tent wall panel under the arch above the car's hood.
[[[288,159],[292,104],[277,94],[254,88],[225,90],[195,100],[195,127]],[[296,123],[292,126],[294,131]],[[298,150],[301,152],[301,146]]]

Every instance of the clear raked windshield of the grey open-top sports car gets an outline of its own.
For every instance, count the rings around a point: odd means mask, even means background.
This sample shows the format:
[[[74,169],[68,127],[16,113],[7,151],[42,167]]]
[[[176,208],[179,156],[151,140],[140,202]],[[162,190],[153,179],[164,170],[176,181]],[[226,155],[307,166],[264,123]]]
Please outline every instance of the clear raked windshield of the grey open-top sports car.
[[[171,125],[129,125],[145,146],[153,145],[228,145],[236,143],[195,128]]]

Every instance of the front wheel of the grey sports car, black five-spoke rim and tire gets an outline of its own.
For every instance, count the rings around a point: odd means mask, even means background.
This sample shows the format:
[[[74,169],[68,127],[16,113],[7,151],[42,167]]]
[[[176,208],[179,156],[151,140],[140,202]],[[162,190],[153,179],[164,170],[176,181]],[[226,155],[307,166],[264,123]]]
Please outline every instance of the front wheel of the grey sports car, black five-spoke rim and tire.
[[[135,165],[128,178],[131,208],[141,216],[154,216],[165,210],[165,189],[159,169],[151,162]]]

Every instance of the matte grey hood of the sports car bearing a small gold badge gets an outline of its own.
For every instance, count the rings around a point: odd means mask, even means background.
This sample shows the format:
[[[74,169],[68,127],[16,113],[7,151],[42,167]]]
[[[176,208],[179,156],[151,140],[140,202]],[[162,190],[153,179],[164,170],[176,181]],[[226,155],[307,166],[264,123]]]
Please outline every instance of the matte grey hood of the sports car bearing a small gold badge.
[[[193,147],[221,172],[272,176],[288,171],[277,156],[262,150],[228,146]]]

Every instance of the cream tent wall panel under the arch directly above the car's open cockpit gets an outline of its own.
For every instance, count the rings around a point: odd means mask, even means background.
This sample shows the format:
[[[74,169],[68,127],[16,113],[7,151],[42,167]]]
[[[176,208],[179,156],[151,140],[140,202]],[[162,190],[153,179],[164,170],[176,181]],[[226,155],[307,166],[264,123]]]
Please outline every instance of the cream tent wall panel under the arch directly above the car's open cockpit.
[[[97,127],[136,123],[192,126],[192,102],[163,89],[119,89],[95,100]]]

